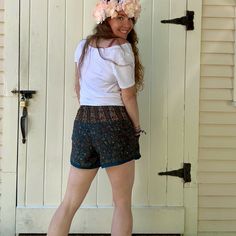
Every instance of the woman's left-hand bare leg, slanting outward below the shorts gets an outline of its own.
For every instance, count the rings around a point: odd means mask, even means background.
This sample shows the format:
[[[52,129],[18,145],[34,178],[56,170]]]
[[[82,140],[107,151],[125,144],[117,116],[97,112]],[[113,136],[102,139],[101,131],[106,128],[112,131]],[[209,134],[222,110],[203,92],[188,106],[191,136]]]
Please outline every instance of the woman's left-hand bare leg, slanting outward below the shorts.
[[[73,166],[70,168],[64,199],[48,229],[48,236],[67,236],[74,214],[82,204],[98,169],[84,170]]]

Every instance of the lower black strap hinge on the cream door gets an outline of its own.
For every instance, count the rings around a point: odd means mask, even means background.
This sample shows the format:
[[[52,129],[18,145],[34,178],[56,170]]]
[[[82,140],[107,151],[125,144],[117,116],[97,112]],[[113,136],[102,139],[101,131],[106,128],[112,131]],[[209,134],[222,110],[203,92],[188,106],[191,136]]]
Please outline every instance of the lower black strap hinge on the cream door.
[[[170,176],[177,176],[182,178],[185,183],[191,182],[191,164],[184,163],[183,168],[178,170],[171,170],[166,172],[159,172],[159,175],[170,175]]]

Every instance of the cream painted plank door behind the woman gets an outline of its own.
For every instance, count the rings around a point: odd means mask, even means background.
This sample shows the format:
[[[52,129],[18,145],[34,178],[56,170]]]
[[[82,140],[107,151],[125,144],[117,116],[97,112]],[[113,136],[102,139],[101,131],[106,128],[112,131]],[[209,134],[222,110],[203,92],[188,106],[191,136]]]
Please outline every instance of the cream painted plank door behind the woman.
[[[18,137],[16,232],[46,232],[65,192],[73,119],[73,53],[94,25],[96,0],[20,1],[20,88],[36,90],[28,107],[26,144]],[[137,24],[145,66],[139,95],[142,158],[136,162],[134,232],[183,233],[184,184],[158,172],[179,169],[184,150],[186,29],[161,24],[186,13],[186,0],[142,0]],[[21,116],[19,110],[19,116]],[[109,233],[112,196],[100,169],[71,233]]]

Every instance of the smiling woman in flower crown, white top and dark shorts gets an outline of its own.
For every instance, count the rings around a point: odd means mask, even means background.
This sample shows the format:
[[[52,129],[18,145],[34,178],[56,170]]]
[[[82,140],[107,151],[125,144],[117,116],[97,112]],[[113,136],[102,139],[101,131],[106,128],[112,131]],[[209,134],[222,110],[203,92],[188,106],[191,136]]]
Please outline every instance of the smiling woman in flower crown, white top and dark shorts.
[[[131,196],[140,129],[136,93],[142,88],[134,24],[139,0],[103,0],[94,10],[95,32],[75,52],[76,93],[80,108],[72,134],[71,169],[64,199],[54,214],[49,236],[68,235],[99,167],[112,186],[111,234],[132,234]]]

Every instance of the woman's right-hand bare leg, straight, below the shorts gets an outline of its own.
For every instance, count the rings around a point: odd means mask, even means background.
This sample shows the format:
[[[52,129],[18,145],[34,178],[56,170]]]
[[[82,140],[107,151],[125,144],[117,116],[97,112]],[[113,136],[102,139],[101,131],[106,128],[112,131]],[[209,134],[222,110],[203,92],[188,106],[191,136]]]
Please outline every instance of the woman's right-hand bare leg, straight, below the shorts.
[[[114,212],[112,236],[131,236],[133,217],[131,211],[132,188],[135,175],[135,161],[106,169],[112,186]]]

